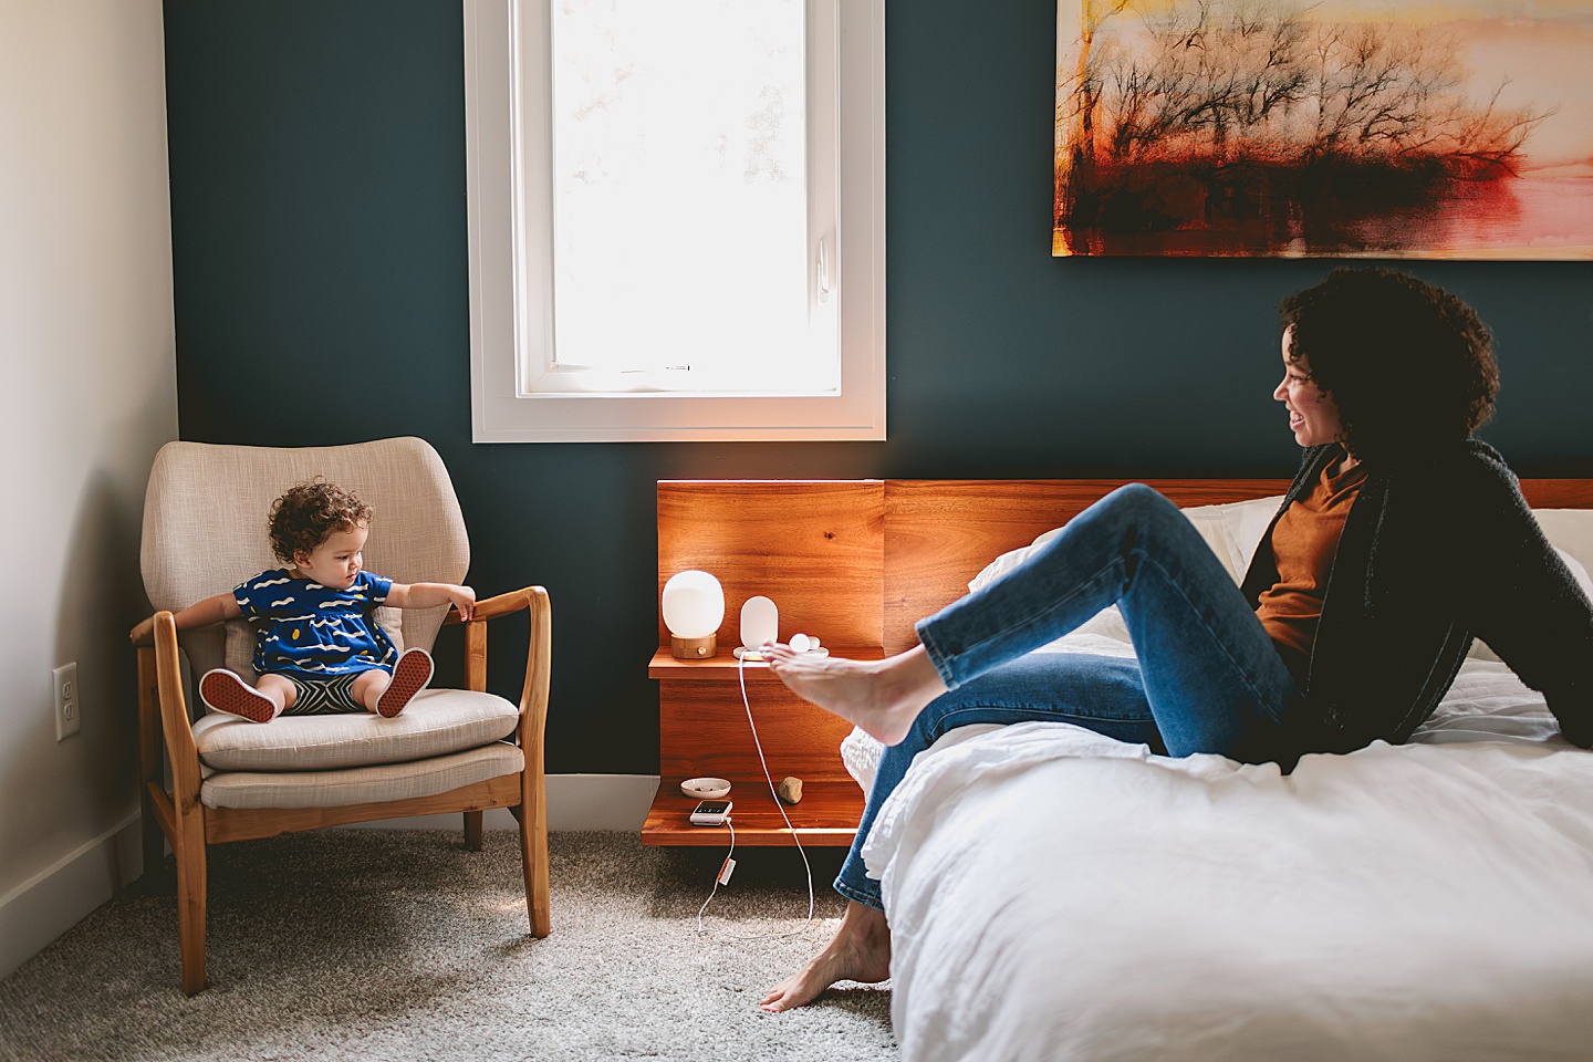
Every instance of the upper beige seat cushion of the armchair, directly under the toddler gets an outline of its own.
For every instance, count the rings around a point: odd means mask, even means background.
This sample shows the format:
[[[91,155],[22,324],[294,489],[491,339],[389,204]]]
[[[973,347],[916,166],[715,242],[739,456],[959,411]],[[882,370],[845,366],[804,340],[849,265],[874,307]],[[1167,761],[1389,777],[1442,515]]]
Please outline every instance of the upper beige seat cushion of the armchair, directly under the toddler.
[[[516,723],[519,709],[495,694],[425,689],[390,720],[358,712],[250,723],[212,712],[194,723],[194,744],[210,771],[333,771],[478,748]]]

